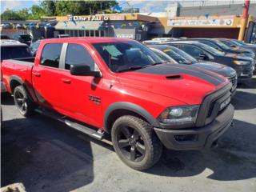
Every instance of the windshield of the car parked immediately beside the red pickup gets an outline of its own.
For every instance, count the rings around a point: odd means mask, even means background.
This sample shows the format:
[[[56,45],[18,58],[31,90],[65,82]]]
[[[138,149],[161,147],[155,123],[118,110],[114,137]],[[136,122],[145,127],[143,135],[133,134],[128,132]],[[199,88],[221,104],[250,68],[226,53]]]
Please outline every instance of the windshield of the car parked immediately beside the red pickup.
[[[166,49],[162,51],[168,54],[176,62],[181,64],[192,64],[194,62],[197,62],[197,60],[192,56],[190,56],[190,54],[186,54],[184,51],[179,50],[176,47],[170,47],[170,49]]]

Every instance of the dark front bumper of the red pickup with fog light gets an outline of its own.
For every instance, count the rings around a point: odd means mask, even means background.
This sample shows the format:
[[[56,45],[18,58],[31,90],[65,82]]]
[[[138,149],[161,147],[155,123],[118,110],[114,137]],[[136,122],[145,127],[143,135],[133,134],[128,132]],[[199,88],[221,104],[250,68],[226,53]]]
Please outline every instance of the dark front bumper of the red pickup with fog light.
[[[213,122],[203,127],[169,130],[154,128],[158,138],[166,148],[171,150],[202,150],[212,146],[218,138],[229,129],[234,116],[234,107],[230,104]],[[185,136],[188,140],[177,138]]]

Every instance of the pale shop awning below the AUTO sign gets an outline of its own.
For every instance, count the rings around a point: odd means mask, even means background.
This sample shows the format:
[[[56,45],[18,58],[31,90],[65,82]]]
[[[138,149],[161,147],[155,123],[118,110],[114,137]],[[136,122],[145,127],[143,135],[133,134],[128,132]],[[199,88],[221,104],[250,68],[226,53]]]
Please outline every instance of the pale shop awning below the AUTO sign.
[[[102,21],[58,22],[56,30],[100,30]]]

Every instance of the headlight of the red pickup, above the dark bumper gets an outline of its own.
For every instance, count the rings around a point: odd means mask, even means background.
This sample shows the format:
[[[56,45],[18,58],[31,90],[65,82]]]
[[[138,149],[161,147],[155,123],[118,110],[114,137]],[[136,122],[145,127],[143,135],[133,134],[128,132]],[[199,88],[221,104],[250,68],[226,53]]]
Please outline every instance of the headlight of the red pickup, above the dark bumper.
[[[196,121],[199,106],[168,107],[160,114],[158,121],[168,125],[191,124]]]

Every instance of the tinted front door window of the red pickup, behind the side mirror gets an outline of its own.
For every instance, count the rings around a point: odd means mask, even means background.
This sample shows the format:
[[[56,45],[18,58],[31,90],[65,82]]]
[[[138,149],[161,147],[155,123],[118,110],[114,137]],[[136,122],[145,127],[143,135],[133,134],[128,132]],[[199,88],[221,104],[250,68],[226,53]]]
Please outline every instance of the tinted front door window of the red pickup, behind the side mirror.
[[[74,66],[90,66],[90,70],[95,70],[94,59],[91,58],[89,52],[80,45],[69,44],[66,50],[65,69],[70,70],[70,65]]]

